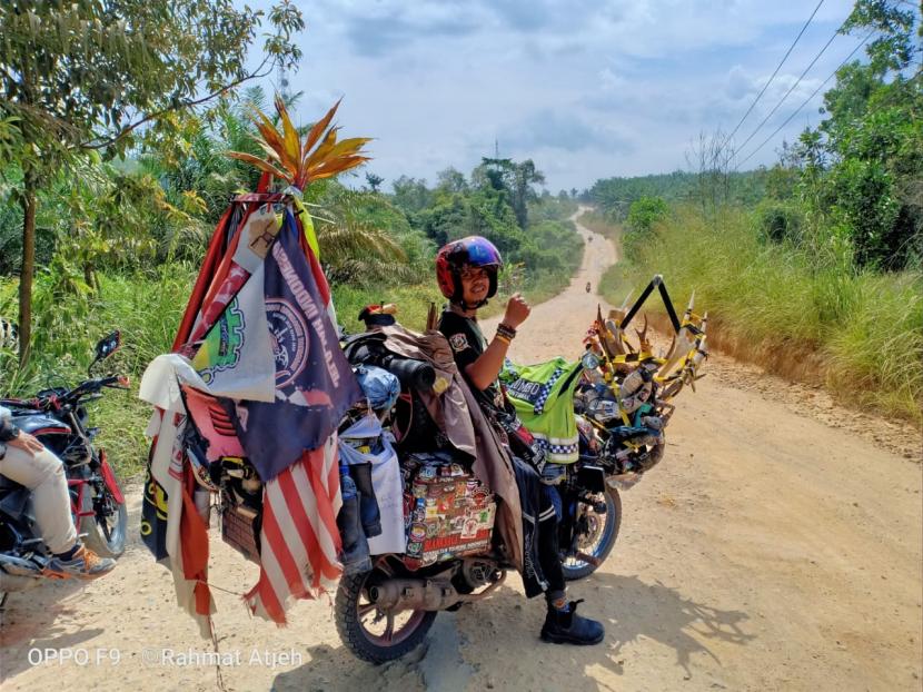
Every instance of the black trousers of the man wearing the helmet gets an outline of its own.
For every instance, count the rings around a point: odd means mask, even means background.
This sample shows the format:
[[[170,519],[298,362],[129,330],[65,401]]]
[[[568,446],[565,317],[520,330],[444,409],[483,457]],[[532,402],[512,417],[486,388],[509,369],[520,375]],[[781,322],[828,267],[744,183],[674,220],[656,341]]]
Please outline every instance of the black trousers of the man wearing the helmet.
[[[558,553],[557,514],[548,496],[554,490],[544,485],[536,471],[516,456],[513,467],[523,505],[526,596],[532,599],[544,592],[548,600],[560,599],[565,590],[564,570]]]

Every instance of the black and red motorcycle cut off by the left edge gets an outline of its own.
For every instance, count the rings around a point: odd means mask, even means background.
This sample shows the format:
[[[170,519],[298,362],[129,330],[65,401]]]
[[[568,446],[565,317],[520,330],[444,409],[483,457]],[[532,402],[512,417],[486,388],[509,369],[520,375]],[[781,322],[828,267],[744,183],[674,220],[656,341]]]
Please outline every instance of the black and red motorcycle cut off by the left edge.
[[[42,389],[30,399],[0,399],[12,412],[12,422],[33,435],[64,465],[71,515],[83,543],[98,555],[119,557],[125,552],[128,513],[118,478],[106,451],[93,446],[99,432],[89,426],[86,405],[103,388],[128,389],[120,375],[92,377],[93,368],[118,350],[121,338],[113,332],[100,339],[88,379],[73,388]],[[24,591],[43,581],[51,555],[34,523],[28,488],[0,476],[0,594]]]

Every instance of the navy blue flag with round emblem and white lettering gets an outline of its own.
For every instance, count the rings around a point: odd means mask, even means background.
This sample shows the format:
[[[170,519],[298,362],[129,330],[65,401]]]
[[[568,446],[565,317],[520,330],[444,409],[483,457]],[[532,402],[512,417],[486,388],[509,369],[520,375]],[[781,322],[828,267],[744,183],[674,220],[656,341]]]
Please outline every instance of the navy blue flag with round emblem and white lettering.
[[[276,359],[275,402],[226,399],[225,404],[264,483],[305,451],[322,446],[347,409],[363,398],[299,235],[295,217],[286,209],[282,229],[264,263],[266,317]]]

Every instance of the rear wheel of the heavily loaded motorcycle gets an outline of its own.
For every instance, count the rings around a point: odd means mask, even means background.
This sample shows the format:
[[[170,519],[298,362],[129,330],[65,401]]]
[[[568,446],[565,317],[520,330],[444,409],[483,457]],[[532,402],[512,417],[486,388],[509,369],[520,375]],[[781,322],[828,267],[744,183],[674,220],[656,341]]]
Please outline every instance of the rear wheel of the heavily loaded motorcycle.
[[[387,579],[377,569],[340,579],[335,605],[336,623],[340,640],[353,655],[379,665],[419,646],[437,613],[404,611],[389,615],[378,611],[367,593],[373,576]],[[380,626],[383,621],[384,629]],[[403,624],[397,625],[398,621]],[[376,629],[383,631],[378,633]]]

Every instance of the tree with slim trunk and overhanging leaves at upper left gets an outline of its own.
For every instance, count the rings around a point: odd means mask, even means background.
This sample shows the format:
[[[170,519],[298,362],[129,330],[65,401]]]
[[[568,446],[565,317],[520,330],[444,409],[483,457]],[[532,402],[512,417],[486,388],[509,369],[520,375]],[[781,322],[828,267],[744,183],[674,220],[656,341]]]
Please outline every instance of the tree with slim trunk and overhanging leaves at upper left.
[[[89,151],[125,152],[145,131],[169,131],[187,109],[276,66],[292,66],[300,11],[280,0],[268,13],[265,58],[248,49],[266,14],[232,0],[7,0],[0,3],[0,121],[19,146],[0,148],[0,168],[22,171],[19,285],[20,363],[31,344],[37,199],[62,167]],[[6,158],[9,157],[9,158]]]

